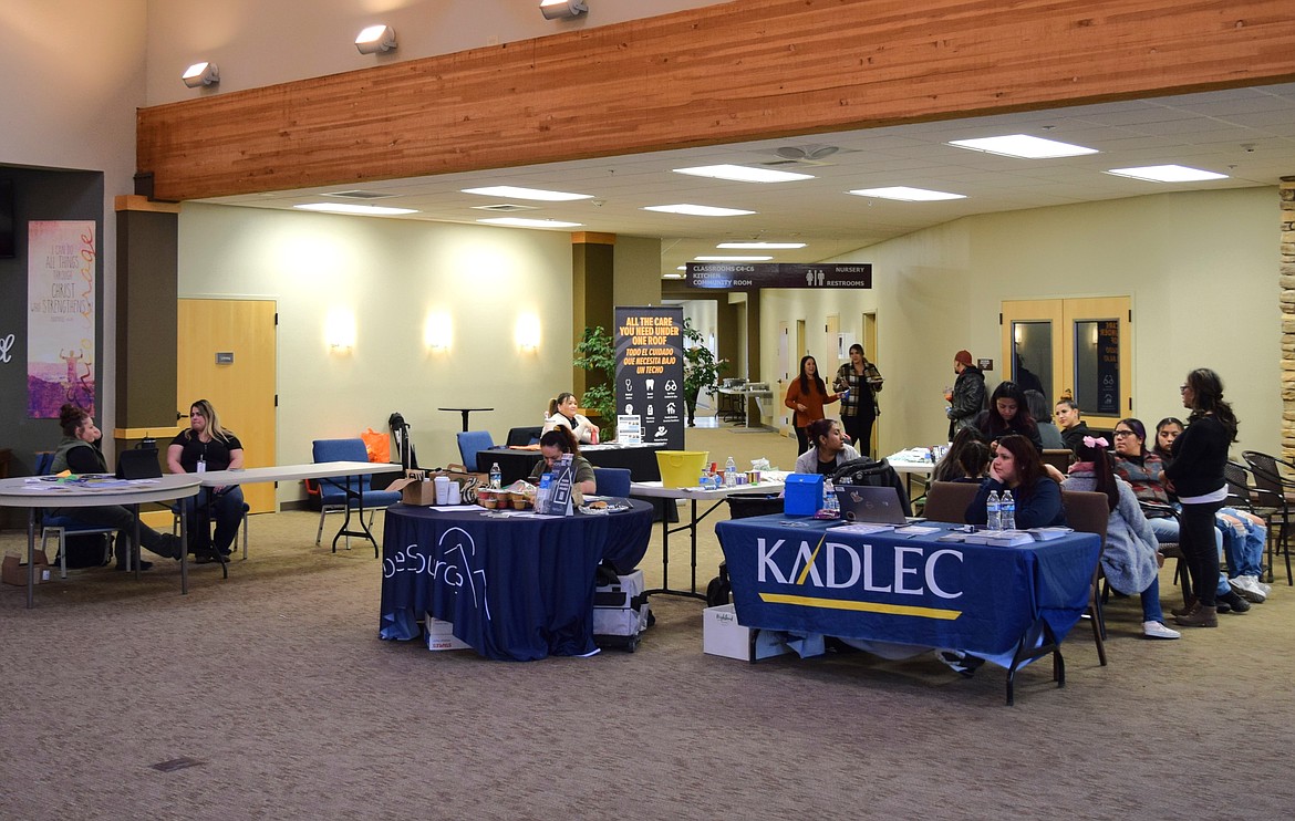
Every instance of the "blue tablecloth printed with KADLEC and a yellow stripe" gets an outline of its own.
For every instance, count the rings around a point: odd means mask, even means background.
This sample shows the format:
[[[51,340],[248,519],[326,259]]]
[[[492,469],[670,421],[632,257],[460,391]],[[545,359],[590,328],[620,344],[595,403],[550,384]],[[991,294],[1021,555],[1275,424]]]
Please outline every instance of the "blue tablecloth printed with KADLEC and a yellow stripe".
[[[1010,659],[1042,624],[1066,637],[1101,550],[1090,534],[1000,548],[834,524],[768,515],[715,526],[741,624]]]

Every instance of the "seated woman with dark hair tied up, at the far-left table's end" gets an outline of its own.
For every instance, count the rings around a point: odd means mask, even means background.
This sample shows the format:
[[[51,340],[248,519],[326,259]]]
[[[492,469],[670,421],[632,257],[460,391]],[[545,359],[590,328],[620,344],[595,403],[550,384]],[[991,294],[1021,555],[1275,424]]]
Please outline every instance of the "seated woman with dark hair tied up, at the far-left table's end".
[[[54,451],[51,473],[107,473],[107,461],[98,449],[102,438],[89,413],[73,404],[58,410],[58,426],[63,429],[63,440]],[[82,524],[117,528],[117,568],[126,570],[127,550],[131,534],[135,532],[135,515],[120,505],[100,508],[58,508],[54,515],[75,519]],[[159,534],[148,524],[140,523],[140,543],[158,556],[180,558],[180,539],[171,534]],[[140,562],[140,570],[148,570],[153,562]]]

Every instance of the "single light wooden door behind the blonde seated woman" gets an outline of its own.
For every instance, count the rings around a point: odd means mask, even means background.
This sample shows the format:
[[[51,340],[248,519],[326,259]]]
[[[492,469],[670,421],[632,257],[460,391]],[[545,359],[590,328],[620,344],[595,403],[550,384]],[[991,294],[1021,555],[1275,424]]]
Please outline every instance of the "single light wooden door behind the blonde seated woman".
[[[181,299],[176,410],[206,399],[243,445],[243,466],[275,464],[276,303]],[[231,360],[232,361],[228,361]],[[181,423],[185,423],[181,421]],[[275,484],[242,488],[251,513],[273,513]]]

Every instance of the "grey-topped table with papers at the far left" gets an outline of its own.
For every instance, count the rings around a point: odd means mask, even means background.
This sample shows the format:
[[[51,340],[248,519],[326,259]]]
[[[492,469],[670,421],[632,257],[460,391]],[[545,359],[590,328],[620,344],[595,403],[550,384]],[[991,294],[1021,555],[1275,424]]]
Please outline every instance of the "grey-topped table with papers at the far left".
[[[27,508],[27,607],[35,606],[36,592],[36,510],[39,508],[130,506],[135,513],[135,545],[132,549],[135,578],[140,578],[140,505],[150,501],[174,501],[198,495],[196,474],[164,475],[158,479],[114,479],[105,477],[102,489],[87,483],[53,480],[53,477],[0,479],[0,506]],[[189,592],[189,534],[180,519],[180,593]]]

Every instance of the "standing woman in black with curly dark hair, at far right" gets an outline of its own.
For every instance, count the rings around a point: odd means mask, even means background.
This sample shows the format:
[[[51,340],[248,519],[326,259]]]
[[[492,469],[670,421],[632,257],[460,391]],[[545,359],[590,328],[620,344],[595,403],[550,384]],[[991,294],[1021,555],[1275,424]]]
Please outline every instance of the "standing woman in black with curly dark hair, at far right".
[[[1222,399],[1222,379],[1208,368],[1188,374],[1180,388],[1182,407],[1191,410],[1188,429],[1173,442],[1173,461],[1164,467],[1166,488],[1182,505],[1178,546],[1197,593],[1195,606],[1175,619],[1182,627],[1219,627],[1215,584],[1219,552],[1215,548],[1215,514],[1228,497],[1222,467],[1228,447],[1237,439],[1237,417]]]

